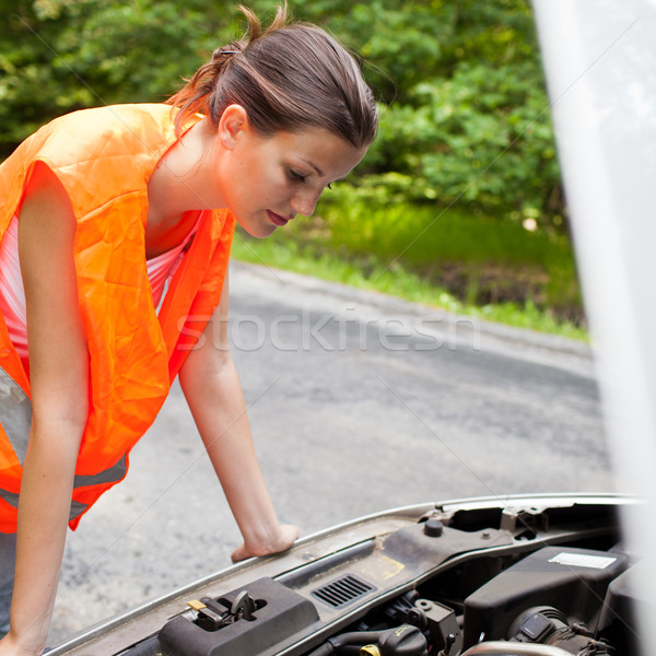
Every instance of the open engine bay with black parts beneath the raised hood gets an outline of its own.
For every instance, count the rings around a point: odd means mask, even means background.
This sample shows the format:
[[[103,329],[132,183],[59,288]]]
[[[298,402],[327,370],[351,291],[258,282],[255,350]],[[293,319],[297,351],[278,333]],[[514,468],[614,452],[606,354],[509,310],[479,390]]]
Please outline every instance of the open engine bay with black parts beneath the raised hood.
[[[187,589],[124,648],[52,654],[633,656],[642,561],[616,515],[605,503],[437,506],[319,558],[301,546],[307,562],[276,575]]]

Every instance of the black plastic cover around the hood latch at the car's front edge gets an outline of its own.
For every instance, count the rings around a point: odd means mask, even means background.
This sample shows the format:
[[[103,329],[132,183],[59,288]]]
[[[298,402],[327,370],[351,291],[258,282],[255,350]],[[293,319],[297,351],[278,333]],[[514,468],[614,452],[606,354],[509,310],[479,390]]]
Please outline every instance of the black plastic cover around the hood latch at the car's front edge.
[[[271,578],[260,578],[221,597],[227,602],[246,590],[258,602],[251,620],[241,619],[216,631],[206,631],[178,616],[160,631],[165,656],[256,656],[318,621],[312,601]]]

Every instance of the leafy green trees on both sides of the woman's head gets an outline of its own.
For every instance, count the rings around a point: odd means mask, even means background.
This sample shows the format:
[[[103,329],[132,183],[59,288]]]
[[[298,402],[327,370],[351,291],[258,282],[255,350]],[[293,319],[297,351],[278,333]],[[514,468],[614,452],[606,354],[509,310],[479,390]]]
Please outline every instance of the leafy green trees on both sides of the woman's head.
[[[254,0],[258,13],[272,0]],[[382,126],[359,178],[405,200],[563,215],[527,0],[290,0],[368,62]],[[1,0],[0,154],[49,118],[161,102],[235,33],[232,0]],[[389,174],[394,177],[390,178]]]

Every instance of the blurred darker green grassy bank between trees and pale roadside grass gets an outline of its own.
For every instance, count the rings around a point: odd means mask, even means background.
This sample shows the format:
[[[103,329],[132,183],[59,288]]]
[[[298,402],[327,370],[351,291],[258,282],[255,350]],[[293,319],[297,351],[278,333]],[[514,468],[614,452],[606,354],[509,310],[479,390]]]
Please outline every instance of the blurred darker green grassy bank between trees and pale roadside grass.
[[[351,260],[375,254],[390,271],[402,267],[469,304],[509,301],[549,308],[554,317],[583,324],[581,291],[566,236],[529,232],[460,207],[407,202],[353,202],[341,188],[323,201],[308,235]]]

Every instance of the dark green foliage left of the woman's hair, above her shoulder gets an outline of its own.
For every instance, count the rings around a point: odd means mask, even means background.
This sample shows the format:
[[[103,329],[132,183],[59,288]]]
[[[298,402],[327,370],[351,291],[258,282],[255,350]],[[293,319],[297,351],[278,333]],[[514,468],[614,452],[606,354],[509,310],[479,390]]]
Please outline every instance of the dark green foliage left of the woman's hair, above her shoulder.
[[[233,7],[229,0],[2,0],[0,155],[66,112],[164,101],[230,32]]]

